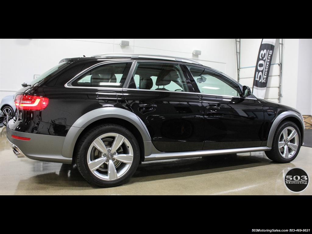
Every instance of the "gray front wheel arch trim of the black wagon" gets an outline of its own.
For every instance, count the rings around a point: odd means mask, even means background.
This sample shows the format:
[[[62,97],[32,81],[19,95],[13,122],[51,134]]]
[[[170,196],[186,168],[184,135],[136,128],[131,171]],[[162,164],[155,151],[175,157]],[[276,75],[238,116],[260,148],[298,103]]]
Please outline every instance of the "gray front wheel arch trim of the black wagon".
[[[280,123],[283,121],[291,121],[298,126],[300,130],[300,134],[301,134],[301,144],[303,144],[304,133],[305,133],[303,119],[300,119],[300,116],[298,116],[298,114],[296,114],[295,112],[285,111],[281,113],[280,115],[278,115],[276,119],[274,120],[270,129],[270,132],[269,132],[268,141],[266,144],[267,147],[270,147],[270,148],[272,147],[272,142],[273,142],[275,131],[277,127],[280,125]]]

